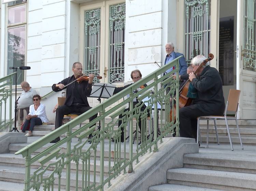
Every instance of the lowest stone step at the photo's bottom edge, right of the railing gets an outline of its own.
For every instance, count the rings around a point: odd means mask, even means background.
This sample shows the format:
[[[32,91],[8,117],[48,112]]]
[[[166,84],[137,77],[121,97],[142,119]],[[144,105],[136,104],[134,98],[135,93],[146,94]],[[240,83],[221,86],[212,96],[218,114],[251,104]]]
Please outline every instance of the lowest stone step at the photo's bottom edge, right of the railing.
[[[175,185],[175,184],[163,184],[163,185],[151,186],[148,188],[148,191],[224,191],[224,190]]]

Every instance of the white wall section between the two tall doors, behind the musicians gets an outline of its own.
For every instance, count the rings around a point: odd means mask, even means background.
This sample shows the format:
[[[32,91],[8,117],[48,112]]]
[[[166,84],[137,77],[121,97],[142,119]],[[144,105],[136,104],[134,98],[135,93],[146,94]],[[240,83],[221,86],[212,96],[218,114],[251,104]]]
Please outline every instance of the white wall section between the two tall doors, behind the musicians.
[[[126,0],[125,82],[132,70],[146,76],[163,64],[165,44],[176,42],[175,15],[175,0]]]

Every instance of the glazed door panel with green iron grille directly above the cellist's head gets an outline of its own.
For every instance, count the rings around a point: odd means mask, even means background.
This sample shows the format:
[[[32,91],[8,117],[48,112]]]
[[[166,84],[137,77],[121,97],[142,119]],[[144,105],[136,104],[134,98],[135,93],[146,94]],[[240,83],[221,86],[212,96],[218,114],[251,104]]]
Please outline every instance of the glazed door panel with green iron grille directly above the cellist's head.
[[[185,58],[190,63],[197,55],[208,57],[211,0],[186,0],[185,8]]]

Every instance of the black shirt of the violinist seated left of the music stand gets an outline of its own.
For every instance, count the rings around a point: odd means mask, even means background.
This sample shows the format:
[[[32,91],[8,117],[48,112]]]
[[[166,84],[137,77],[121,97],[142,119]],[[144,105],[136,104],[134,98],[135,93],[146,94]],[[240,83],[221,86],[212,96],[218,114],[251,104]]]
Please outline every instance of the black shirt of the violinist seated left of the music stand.
[[[63,79],[58,84],[67,85],[74,80],[75,80],[75,77],[74,77],[74,75],[72,75],[66,79]],[[88,81],[82,81],[80,83],[77,83],[75,81],[74,83],[70,84],[69,86],[63,88],[63,89],[67,89],[65,105],[68,105],[68,106],[72,105],[74,97],[77,96],[75,92],[79,92],[80,97],[83,99],[85,106],[88,107],[89,103],[87,101],[87,96],[89,96],[91,94],[91,85],[92,84],[89,84]],[[75,87],[77,88],[77,91],[74,91]],[[54,84],[52,86],[52,89],[55,92],[62,90],[62,89],[59,89],[58,87],[56,87],[56,84]]]

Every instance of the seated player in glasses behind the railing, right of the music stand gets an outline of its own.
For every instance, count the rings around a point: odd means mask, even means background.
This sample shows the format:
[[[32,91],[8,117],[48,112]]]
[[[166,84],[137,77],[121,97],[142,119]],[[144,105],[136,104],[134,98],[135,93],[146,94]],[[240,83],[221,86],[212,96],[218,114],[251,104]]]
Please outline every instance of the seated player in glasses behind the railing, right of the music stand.
[[[132,81],[133,81],[134,83],[137,82],[138,80],[140,80],[141,77],[142,77],[142,75],[141,75],[141,72],[140,72],[139,70],[133,70],[133,71],[131,72],[131,78],[132,78]],[[132,84],[133,84],[133,83],[132,83]],[[122,91],[123,89],[129,87],[129,86],[132,85],[132,84],[128,84],[128,85],[123,86],[123,87],[115,88],[113,94],[116,94],[116,93]],[[147,86],[147,85],[144,84],[144,87],[146,87],[146,86]],[[137,100],[137,99],[136,99],[136,100]],[[133,107],[135,107],[135,105],[138,104],[138,103],[139,103],[138,100],[137,100],[136,102],[133,102]],[[145,108],[146,108],[146,105],[143,104],[143,106],[141,107],[141,111],[144,111]],[[124,110],[124,112],[126,112],[126,111],[128,111],[128,110],[129,110],[129,108],[126,108],[126,109]],[[120,115],[119,115],[119,119],[121,119],[122,117],[124,117],[124,116],[123,116],[122,114],[120,114]],[[122,121],[119,120],[119,121],[118,121],[118,127],[120,127],[121,124],[122,124]],[[140,128],[140,132],[141,132],[141,118],[139,119],[139,128]],[[121,130],[122,130],[122,133],[121,133],[121,142],[124,142],[124,139],[125,139],[125,137],[124,137],[124,128],[122,127]],[[112,142],[114,142],[114,140],[112,140]]]

